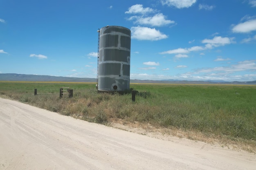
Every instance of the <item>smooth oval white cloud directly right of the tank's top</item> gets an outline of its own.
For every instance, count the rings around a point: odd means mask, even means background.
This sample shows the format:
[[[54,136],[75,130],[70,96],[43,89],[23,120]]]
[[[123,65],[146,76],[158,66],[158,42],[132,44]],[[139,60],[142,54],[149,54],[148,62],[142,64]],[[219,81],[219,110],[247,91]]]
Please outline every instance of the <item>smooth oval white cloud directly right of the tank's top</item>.
[[[141,26],[132,26],[131,28],[132,36],[131,38],[137,40],[151,40],[157,41],[168,38],[167,35],[161,33],[159,30],[155,28],[151,29],[148,27],[141,27]]]

